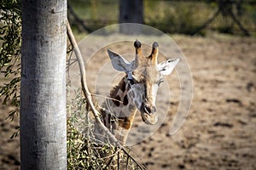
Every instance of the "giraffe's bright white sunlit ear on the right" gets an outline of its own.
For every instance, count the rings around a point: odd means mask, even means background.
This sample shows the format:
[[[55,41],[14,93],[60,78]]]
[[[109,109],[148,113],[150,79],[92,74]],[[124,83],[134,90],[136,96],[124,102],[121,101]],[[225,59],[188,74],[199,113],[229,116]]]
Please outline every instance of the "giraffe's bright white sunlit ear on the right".
[[[176,67],[179,59],[168,59],[164,62],[161,62],[160,64],[157,65],[160,73],[163,75],[169,75],[172,73],[173,69]]]

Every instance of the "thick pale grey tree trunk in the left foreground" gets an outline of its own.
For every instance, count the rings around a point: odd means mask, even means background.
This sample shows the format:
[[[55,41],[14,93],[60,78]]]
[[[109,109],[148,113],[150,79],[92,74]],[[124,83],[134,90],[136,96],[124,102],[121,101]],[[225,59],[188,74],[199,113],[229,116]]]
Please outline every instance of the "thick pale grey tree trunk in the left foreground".
[[[20,168],[67,168],[67,0],[22,1]]]

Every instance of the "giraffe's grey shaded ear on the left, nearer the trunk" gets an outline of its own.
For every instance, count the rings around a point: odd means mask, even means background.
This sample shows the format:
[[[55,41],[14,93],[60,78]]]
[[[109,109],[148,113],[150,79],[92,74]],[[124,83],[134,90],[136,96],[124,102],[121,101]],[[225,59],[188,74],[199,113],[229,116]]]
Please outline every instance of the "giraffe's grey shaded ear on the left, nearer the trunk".
[[[131,63],[129,63],[126,59],[124,59],[122,56],[119,54],[114,53],[110,49],[108,49],[108,55],[109,58],[111,59],[111,63],[113,65],[113,68],[117,71],[131,71]]]

